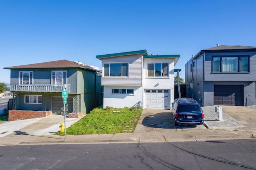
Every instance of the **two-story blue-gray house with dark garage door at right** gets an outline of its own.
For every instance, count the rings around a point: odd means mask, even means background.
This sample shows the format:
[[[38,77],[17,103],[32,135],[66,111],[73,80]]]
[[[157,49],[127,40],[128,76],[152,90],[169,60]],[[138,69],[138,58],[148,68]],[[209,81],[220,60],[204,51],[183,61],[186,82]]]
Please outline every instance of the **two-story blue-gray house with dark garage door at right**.
[[[218,45],[185,64],[186,97],[201,106],[255,105],[256,47]]]

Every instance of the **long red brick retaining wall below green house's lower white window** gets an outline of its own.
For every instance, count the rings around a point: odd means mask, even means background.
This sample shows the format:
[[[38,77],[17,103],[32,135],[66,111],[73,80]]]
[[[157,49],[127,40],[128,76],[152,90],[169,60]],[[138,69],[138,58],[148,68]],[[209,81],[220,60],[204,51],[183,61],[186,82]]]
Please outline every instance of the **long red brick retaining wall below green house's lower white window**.
[[[52,111],[9,110],[8,121],[19,121],[19,120],[24,120],[24,119],[48,117],[51,114],[52,114]]]

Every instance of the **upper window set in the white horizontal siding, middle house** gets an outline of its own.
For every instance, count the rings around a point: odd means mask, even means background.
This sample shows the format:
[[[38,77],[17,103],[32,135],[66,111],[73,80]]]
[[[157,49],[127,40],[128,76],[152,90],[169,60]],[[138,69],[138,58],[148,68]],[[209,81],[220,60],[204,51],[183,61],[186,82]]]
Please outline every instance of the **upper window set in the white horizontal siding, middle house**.
[[[128,63],[110,63],[104,64],[105,77],[127,77]]]

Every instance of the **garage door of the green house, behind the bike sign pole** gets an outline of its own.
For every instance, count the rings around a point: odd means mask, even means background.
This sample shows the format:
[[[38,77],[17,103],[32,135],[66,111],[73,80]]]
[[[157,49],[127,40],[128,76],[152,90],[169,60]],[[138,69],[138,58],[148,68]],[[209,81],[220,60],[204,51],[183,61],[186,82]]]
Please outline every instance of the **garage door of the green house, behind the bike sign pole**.
[[[73,98],[67,98],[66,115],[73,112]],[[52,97],[52,114],[64,115],[64,104],[62,97]]]

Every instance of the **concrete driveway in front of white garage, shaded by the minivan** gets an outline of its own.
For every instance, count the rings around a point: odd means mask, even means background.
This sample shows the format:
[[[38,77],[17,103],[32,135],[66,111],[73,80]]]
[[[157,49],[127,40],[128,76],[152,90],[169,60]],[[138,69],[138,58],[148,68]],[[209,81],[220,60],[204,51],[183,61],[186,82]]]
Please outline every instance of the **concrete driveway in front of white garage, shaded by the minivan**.
[[[134,132],[161,132],[195,129],[206,129],[206,127],[204,125],[175,126],[170,110],[144,109]]]

